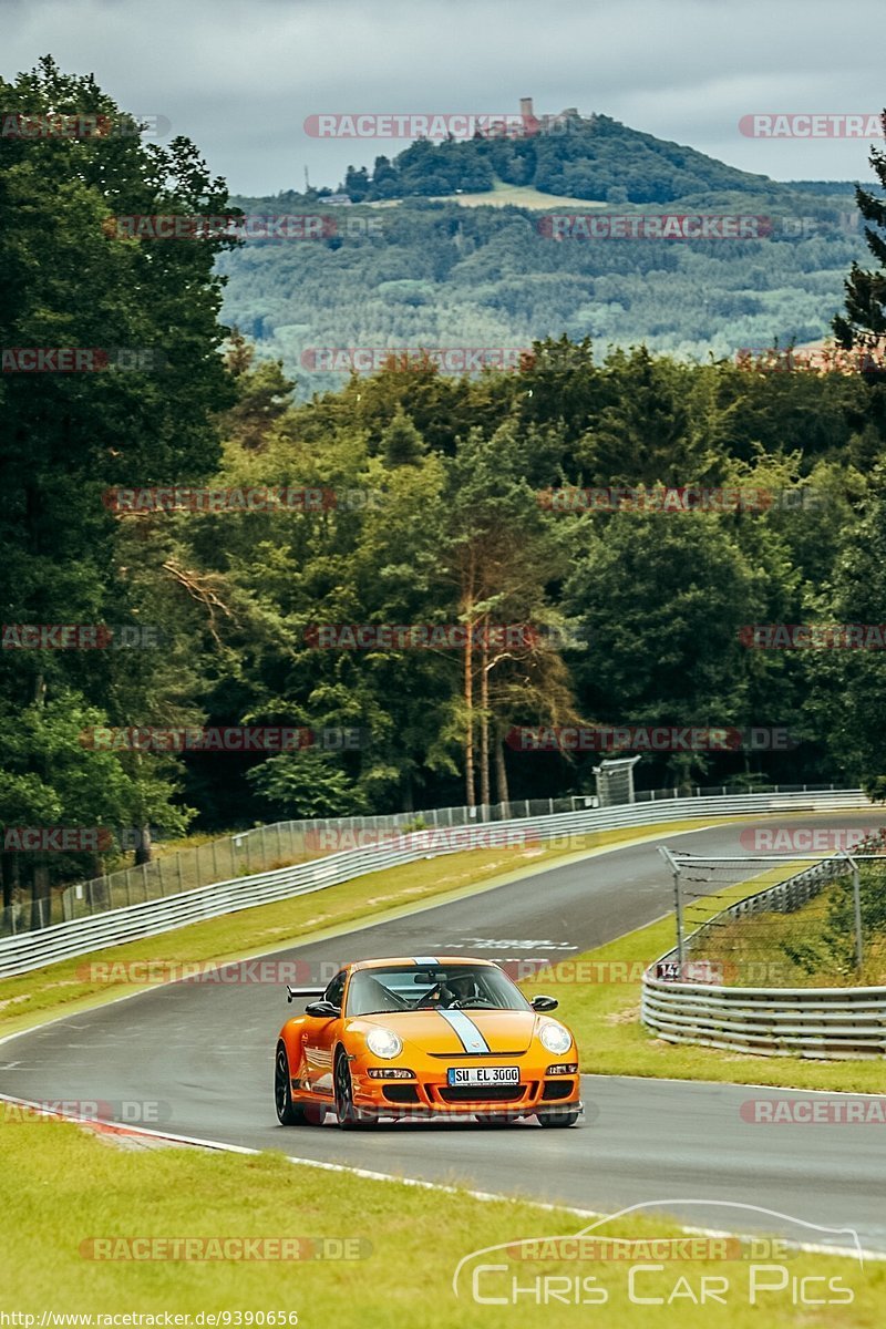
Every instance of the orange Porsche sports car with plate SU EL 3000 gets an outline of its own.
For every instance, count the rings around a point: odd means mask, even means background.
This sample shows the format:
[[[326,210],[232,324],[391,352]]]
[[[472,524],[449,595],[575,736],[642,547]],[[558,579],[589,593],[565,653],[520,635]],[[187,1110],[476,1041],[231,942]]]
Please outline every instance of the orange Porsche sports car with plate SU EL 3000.
[[[288,1019],[274,1098],[283,1126],[371,1126],[381,1116],[535,1116],[573,1126],[582,1111],[575,1041],[489,960],[426,957],[345,965]]]

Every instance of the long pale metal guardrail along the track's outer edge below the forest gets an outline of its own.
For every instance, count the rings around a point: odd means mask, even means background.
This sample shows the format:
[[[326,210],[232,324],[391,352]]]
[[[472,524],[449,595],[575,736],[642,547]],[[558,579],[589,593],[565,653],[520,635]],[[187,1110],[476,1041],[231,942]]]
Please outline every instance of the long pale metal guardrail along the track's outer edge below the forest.
[[[0,977],[28,973],[58,960],[85,956],[101,946],[153,937],[189,922],[250,909],[290,896],[308,894],[339,885],[383,868],[413,863],[417,859],[456,853],[470,848],[472,839],[482,833],[498,836],[490,843],[522,843],[527,836],[562,840],[595,831],[620,827],[655,825],[695,817],[741,816],[753,812],[816,812],[838,808],[869,807],[861,789],[825,793],[751,793],[735,797],[673,799],[659,804],[627,804],[618,808],[594,808],[554,816],[523,817],[497,821],[485,827],[464,827],[416,832],[402,844],[388,841],[368,849],[349,849],[313,863],[302,863],[275,872],[219,881],[181,894],[125,905],[105,913],[70,922],[54,924],[40,932],[20,933],[0,940]],[[458,833],[461,832],[461,835]]]

